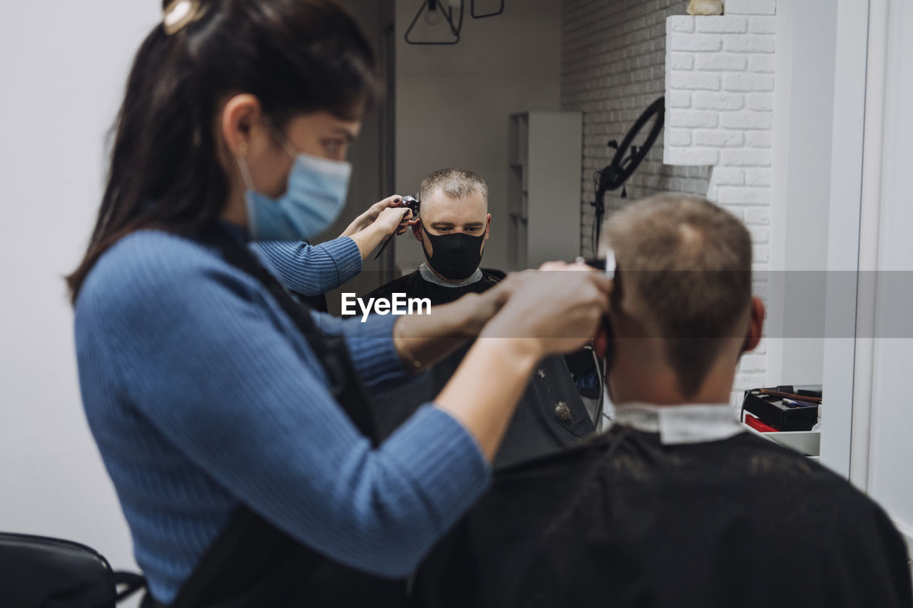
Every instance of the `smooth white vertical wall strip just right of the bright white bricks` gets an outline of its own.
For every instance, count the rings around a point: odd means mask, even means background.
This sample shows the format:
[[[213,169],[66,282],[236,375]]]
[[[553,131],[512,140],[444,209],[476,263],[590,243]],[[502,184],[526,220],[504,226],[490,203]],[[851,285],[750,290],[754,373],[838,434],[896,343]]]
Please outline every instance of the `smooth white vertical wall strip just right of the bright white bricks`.
[[[824,378],[837,4],[777,5],[769,383]]]

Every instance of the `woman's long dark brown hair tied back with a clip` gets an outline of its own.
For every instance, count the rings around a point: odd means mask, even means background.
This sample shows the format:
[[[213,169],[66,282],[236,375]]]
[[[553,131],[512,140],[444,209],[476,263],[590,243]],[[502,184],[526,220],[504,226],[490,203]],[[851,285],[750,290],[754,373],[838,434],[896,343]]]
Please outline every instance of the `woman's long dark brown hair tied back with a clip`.
[[[227,95],[255,95],[279,128],[318,110],[353,120],[377,99],[371,45],[336,2],[201,5],[200,17],[171,36],[156,26],[134,58],[98,219],[67,278],[74,302],[96,261],[123,236],[149,227],[190,234],[222,213],[229,186],[214,130]]]

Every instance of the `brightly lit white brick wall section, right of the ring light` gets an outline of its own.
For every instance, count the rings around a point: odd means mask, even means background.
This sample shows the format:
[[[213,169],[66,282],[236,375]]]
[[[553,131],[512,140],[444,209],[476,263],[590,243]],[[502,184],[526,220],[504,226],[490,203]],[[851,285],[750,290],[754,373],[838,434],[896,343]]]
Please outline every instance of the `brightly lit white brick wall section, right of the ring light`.
[[[723,16],[666,19],[666,146],[664,161],[712,165],[708,198],[748,225],[754,267],[768,269],[770,251],[775,0],[727,0]],[[763,273],[755,294],[766,299]],[[733,386],[761,386],[766,348],[742,357]]]

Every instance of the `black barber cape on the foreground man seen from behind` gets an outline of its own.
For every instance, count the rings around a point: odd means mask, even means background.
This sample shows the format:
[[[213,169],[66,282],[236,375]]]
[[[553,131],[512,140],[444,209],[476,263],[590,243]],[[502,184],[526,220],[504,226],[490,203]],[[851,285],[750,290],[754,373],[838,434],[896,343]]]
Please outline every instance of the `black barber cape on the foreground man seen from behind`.
[[[424,608],[909,608],[904,541],[824,467],[745,433],[614,425],[498,473],[415,581]]]

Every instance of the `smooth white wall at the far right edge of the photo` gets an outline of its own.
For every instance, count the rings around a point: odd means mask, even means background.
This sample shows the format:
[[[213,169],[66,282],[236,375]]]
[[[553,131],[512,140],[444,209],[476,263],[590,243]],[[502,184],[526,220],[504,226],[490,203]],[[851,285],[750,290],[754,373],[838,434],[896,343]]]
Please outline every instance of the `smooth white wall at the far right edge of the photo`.
[[[892,0],[840,0],[836,25],[827,323],[829,335],[853,324],[855,336],[825,344],[833,396],[821,459],[886,508],[913,551],[913,44],[906,36],[913,10]],[[852,308],[832,306],[857,286]]]

